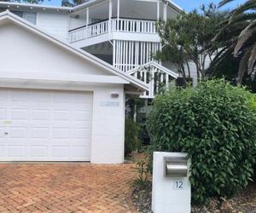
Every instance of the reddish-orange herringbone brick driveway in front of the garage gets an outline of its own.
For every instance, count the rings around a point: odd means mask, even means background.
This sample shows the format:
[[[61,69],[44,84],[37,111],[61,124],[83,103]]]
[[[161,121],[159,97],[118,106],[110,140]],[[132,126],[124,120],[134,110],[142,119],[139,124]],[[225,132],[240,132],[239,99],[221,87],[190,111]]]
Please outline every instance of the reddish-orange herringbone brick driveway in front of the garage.
[[[0,212],[131,212],[133,164],[0,164]]]

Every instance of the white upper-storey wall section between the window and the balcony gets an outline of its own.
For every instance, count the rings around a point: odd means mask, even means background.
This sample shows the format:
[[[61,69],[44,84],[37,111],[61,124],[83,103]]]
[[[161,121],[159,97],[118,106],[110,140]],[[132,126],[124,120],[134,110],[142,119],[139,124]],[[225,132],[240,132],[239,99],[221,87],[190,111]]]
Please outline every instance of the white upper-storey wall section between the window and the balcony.
[[[55,37],[67,40],[68,20],[67,13],[43,11],[38,12],[37,26]]]

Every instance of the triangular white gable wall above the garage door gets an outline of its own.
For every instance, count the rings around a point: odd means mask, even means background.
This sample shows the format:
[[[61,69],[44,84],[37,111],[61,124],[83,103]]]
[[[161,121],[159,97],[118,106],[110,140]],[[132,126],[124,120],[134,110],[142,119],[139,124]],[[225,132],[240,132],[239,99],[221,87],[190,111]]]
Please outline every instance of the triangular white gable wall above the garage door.
[[[2,29],[0,46],[1,49],[7,50],[0,51],[0,58],[8,56],[9,60],[1,60],[1,70],[15,72],[19,69],[20,72],[44,73],[72,71],[73,74],[110,75],[101,71],[95,64],[70,54],[55,43],[49,43],[41,37],[26,32],[20,26],[11,24],[3,26]],[[12,60],[15,60],[15,63]]]

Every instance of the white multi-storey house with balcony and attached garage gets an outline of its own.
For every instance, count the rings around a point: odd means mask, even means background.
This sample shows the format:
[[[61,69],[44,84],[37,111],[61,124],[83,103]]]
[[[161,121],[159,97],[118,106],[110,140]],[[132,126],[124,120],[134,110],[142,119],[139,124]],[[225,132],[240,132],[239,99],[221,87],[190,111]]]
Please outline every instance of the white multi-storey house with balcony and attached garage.
[[[165,0],[0,2],[0,161],[122,163],[125,94],[152,99],[178,78],[153,55],[155,22],[179,11]]]

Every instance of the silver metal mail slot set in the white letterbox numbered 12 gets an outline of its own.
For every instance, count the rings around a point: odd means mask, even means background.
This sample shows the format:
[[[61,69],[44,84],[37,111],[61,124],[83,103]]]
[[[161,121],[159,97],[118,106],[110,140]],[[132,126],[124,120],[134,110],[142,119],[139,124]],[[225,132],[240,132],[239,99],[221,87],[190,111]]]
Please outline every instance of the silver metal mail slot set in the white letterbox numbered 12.
[[[183,176],[188,173],[188,159],[185,157],[165,157],[165,176]]]

